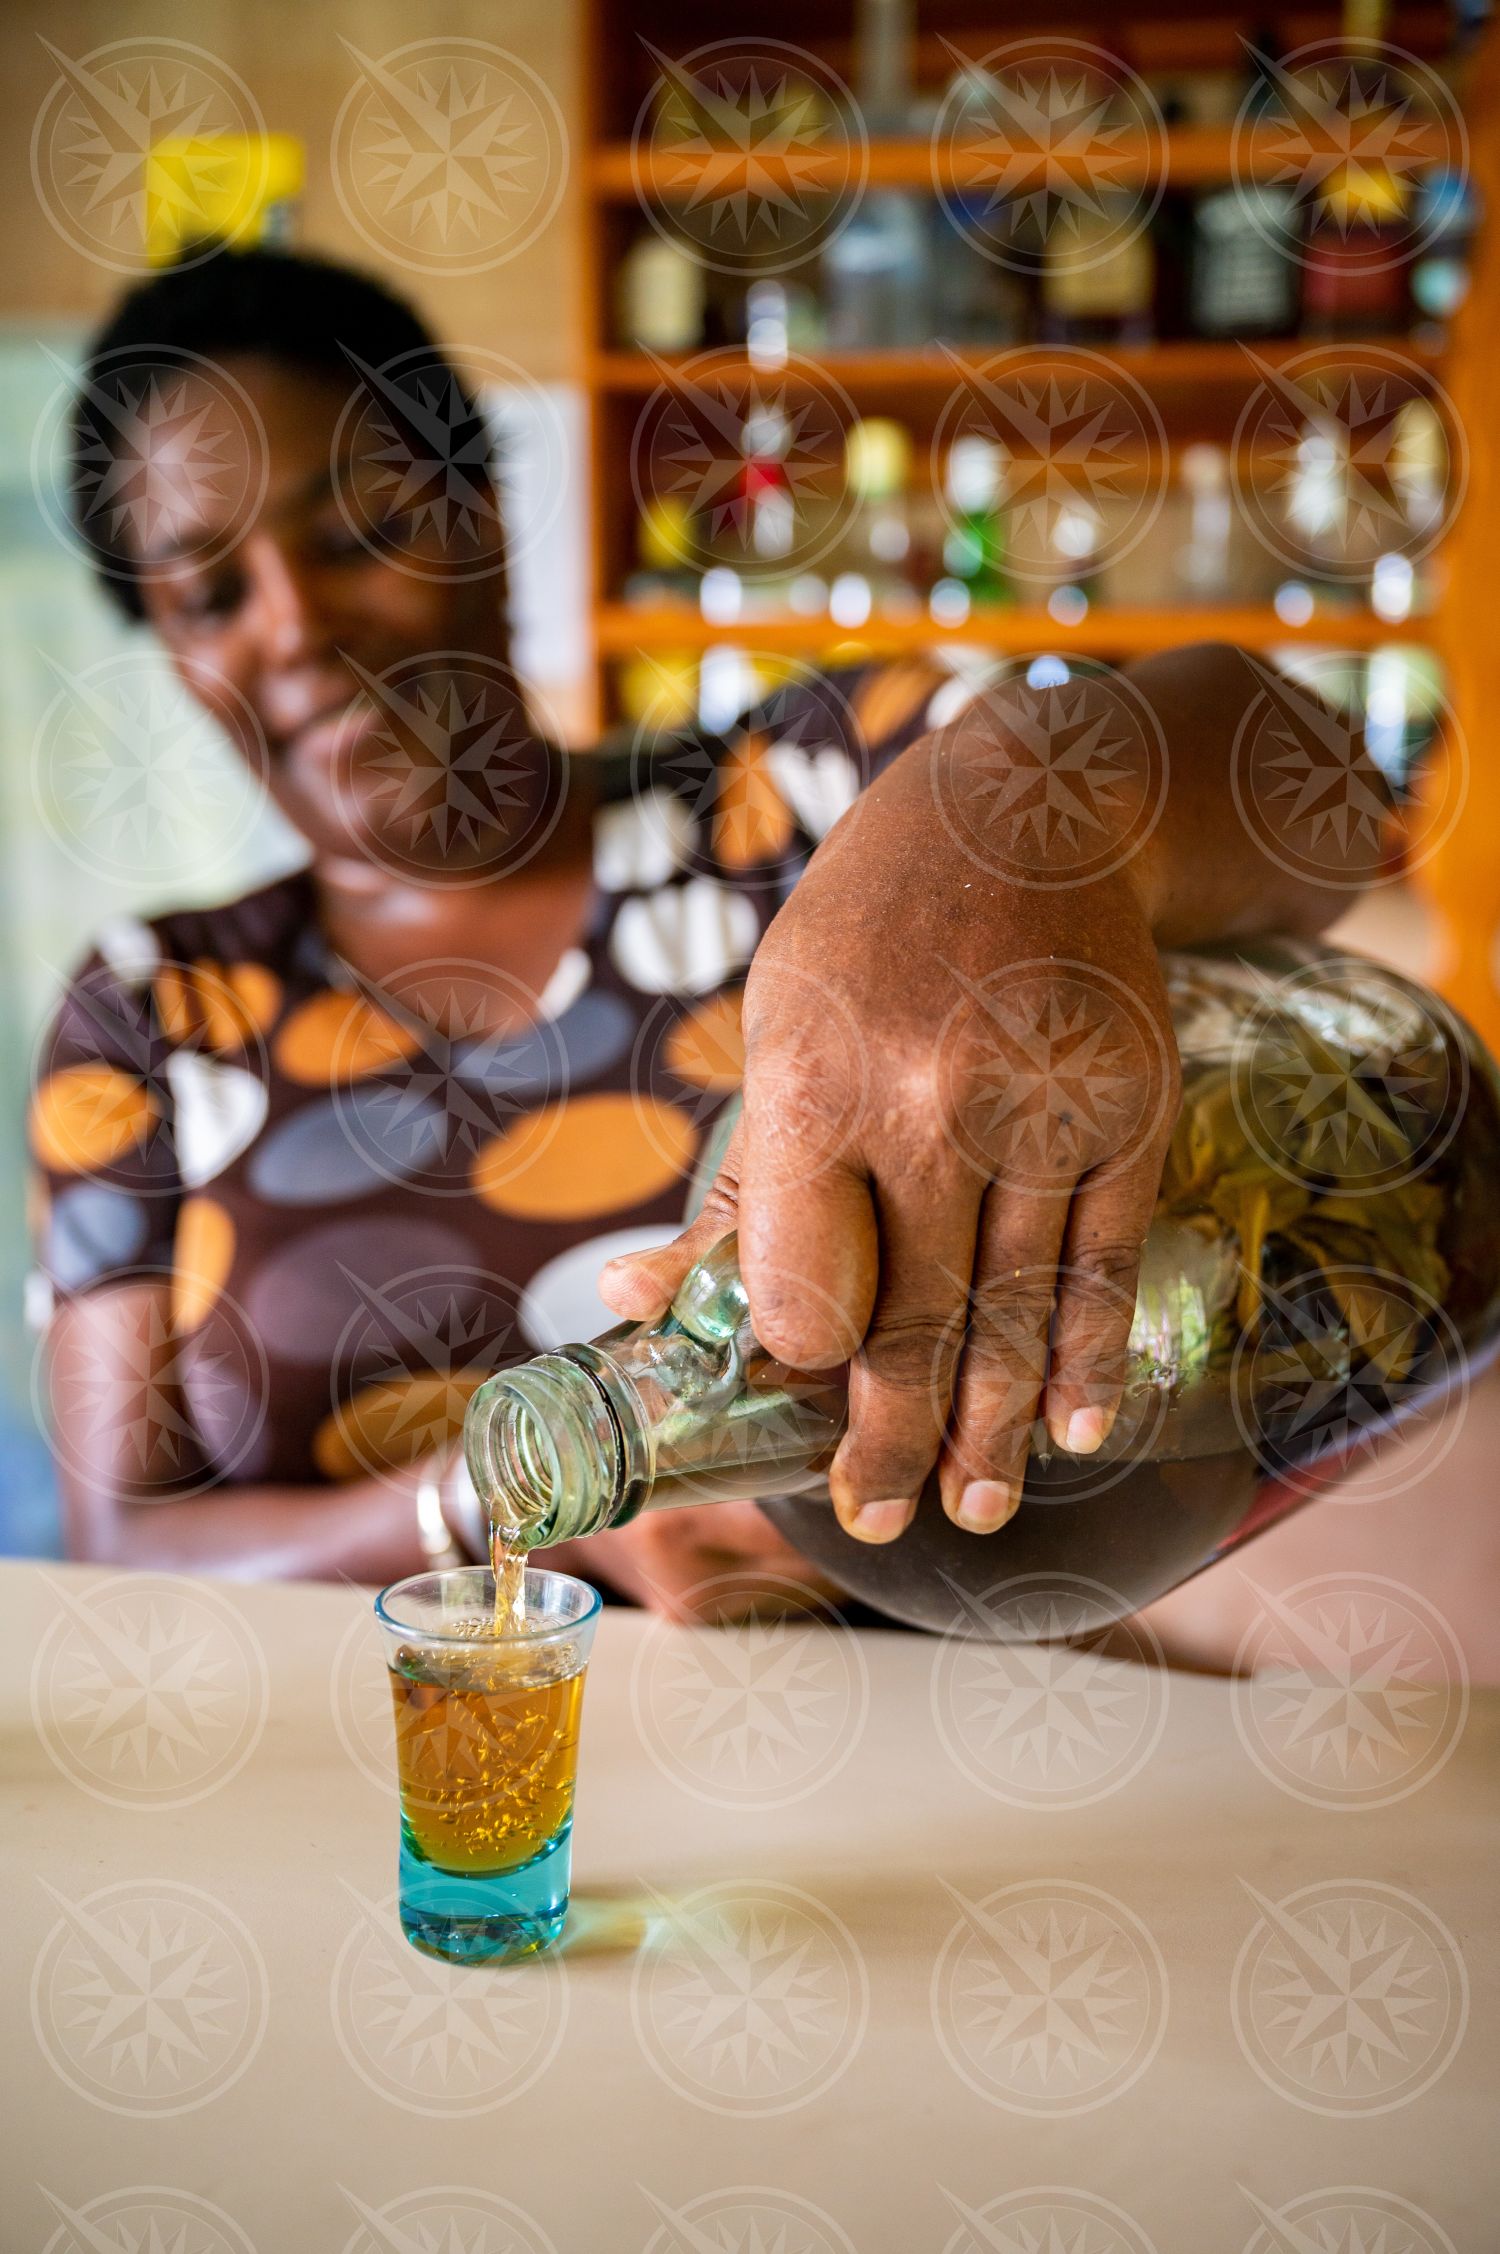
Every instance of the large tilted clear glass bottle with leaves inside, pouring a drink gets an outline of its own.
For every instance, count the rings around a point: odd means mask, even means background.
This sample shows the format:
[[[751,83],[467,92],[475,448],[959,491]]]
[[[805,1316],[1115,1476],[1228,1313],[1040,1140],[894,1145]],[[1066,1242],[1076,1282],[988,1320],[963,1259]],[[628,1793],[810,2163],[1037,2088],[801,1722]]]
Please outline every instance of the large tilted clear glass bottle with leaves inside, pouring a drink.
[[[846,1373],[789,1370],[760,1346],[733,1237],[659,1323],[478,1388],[465,1452],[492,1524],[537,1548],[672,1503],[771,1499],[803,1555],[895,1618],[999,1632],[981,1598],[1065,1576],[1103,1623],[1324,1492],[1459,1384],[1500,1337],[1500,1080],[1482,1046],[1351,956],[1205,949],[1164,974],[1184,1093],[1121,1409],[1094,1456],[1033,1427],[1002,1535],[952,1526],[936,1492],[895,1544],[841,1530],[826,1472]],[[1331,1113],[1297,1102],[1324,1084],[1344,1091]]]

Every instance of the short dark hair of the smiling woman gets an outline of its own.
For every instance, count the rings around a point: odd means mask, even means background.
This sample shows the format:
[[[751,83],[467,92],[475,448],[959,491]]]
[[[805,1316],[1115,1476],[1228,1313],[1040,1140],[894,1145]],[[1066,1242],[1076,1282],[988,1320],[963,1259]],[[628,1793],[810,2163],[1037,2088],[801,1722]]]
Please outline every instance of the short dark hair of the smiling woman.
[[[180,374],[180,354],[221,358],[259,354],[309,374],[350,381],[356,363],[386,367],[402,361],[399,383],[413,379],[451,385],[471,415],[471,431],[453,431],[453,442],[474,442],[483,415],[422,316],[374,275],[302,250],[232,250],[192,264],[167,266],[124,293],[88,347],[79,394],[72,406],[68,498],[72,523],[106,593],[129,618],[144,618],[140,584],[117,523],[95,512],[99,469],[115,460],[120,444],[108,408],[108,388],[129,372],[131,381],[160,365]],[[474,460],[474,453],[467,455]]]

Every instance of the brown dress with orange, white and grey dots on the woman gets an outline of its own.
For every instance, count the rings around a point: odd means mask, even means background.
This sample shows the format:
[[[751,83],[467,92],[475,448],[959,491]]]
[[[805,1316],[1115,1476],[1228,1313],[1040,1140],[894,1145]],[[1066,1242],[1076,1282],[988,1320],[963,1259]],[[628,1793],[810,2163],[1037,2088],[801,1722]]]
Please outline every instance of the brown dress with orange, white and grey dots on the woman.
[[[650,771],[600,755],[589,931],[517,1035],[483,1030],[474,965],[422,965],[420,1003],[356,978],[305,875],[111,924],[32,1100],[52,1298],[169,1283],[219,1481],[365,1479],[451,1440],[494,1368],[609,1325],[605,1260],[674,1233],[756,944],[941,685],[808,676]]]

